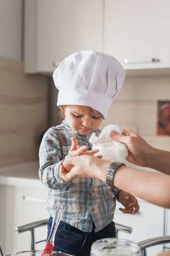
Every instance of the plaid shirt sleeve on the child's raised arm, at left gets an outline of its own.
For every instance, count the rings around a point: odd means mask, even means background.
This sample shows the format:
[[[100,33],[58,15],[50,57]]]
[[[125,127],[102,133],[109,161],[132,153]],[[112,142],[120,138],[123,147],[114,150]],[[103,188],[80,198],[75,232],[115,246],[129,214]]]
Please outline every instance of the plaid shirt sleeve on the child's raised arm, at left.
[[[39,150],[39,177],[41,182],[49,189],[62,189],[71,182],[61,178],[60,167],[62,163],[61,144],[54,128],[50,128],[43,136]]]

